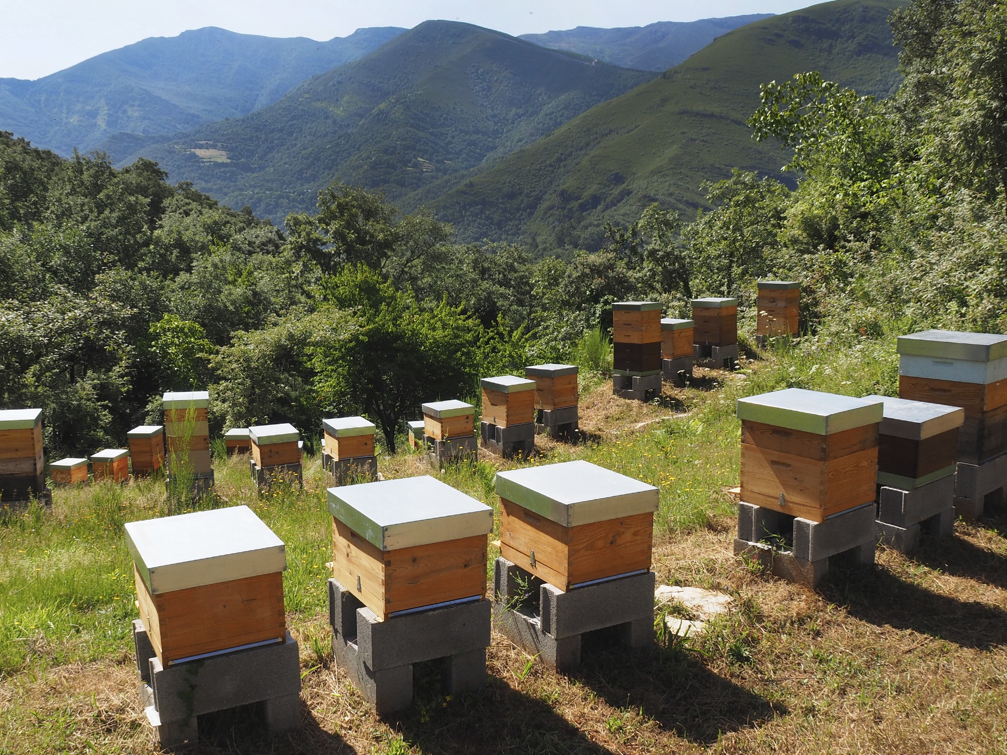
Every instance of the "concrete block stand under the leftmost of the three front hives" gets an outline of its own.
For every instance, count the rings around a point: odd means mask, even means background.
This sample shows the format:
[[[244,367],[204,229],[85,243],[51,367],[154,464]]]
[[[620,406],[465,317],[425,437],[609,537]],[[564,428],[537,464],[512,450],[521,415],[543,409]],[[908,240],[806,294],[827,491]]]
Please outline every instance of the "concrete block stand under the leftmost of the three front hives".
[[[272,733],[301,726],[297,642],[274,642],[184,663],[161,665],[143,622],[133,622],[140,700],[161,747],[195,744],[198,717],[259,703]]]

